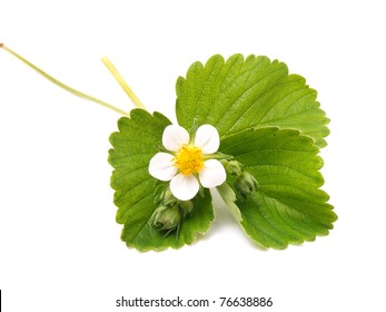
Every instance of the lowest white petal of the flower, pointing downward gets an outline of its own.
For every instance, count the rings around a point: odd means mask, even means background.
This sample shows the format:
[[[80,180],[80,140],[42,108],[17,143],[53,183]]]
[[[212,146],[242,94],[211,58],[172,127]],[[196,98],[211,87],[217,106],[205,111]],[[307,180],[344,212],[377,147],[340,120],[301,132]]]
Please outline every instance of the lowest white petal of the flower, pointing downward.
[[[180,201],[189,201],[196,196],[200,185],[194,175],[176,175],[170,181],[170,191]]]

